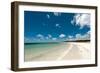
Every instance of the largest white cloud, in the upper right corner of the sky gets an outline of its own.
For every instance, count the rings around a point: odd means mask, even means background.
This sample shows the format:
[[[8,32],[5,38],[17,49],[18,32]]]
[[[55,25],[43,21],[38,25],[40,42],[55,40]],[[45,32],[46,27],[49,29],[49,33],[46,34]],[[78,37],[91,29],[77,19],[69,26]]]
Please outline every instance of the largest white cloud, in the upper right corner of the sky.
[[[76,14],[71,23],[80,26],[80,29],[84,26],[90,27],[90,14]]]

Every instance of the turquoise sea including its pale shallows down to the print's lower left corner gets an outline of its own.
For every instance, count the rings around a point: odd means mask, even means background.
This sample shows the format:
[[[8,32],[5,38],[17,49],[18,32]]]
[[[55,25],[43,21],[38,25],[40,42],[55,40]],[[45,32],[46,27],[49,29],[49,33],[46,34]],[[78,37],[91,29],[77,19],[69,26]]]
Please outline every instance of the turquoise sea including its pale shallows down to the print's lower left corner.
[[[55,52],[60,46],[66,46],[64,42],[57,43],[28,43],[24,44],[24,61],[35,60],[37,57],[40,57],[44,53]],[[46,55],[45,54],[45,55]],[[38,58],[39,59],[39,58]]]

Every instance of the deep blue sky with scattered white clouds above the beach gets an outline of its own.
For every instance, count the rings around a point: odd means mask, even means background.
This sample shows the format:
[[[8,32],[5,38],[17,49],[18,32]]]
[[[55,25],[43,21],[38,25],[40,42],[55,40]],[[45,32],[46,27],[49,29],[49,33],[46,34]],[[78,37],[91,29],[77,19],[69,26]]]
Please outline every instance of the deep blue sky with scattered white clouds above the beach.
[[[24,11],[24,41],[90,39],[90,14]]]

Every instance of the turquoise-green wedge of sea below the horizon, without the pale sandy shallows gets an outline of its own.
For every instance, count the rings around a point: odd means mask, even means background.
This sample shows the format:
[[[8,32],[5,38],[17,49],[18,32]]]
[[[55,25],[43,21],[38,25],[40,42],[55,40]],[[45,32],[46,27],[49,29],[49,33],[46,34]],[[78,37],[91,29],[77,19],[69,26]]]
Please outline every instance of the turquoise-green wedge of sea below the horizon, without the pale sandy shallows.
[[[41,51],[46,51],[60,45],[60,43],[42,43],[42,44],[24,44],[25,55],[36,54]]]

